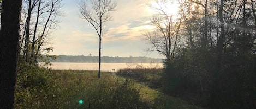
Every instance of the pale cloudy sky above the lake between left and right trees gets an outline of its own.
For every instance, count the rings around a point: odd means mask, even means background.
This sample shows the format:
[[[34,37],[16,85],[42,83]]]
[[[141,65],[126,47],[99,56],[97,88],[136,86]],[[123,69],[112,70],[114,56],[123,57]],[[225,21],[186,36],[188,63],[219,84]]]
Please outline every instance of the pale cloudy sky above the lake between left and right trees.
[[[112,21],[106,23],[107,34],[102,40],[102,56],[146,56],[163,58],[158,53],[147,54],[151,45],[142,35],[150,26],[152,0],[116,0],[116,11],[111,12]],[[51,55],[98,56],[99,38],[96,30],[79,17],[78,0],[63,0],[56,30],[51,35]],[[90,2],[89,2],[90,3]]]

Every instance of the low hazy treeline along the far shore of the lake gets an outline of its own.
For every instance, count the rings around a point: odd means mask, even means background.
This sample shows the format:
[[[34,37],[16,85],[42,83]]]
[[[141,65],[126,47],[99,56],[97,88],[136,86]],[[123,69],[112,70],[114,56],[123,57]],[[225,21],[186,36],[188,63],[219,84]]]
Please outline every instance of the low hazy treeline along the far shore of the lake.
[[[68,56],[58,55],[56,60],[49,59],[50,62],[88,62],[94,63],[99,61],[98,56]],[[150,57],[109,57],[102,56],[103,63],[161,63],[163,59],[155,59]]]

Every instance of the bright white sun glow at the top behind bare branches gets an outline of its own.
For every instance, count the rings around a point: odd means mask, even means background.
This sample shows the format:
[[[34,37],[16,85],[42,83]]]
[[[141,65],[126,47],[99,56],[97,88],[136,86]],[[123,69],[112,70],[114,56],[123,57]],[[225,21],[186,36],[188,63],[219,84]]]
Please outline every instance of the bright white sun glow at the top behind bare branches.
[[[167,15],[175,16],[178,14],[178,9],[180,5],[176,0],[158,0],[158,1],[151,1],[148,3],[150,7],[148,7],[148,12],[150,14],[156,14],[162,9]]]

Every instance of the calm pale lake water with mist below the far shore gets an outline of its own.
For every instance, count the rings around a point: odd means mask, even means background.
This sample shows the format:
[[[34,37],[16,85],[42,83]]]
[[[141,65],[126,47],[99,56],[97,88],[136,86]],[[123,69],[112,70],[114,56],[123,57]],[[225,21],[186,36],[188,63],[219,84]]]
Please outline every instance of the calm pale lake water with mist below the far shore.
[[[49,66],[52,69],[59,70],[98,70],[98,63],[65,63],[65,62],[52,62]],[[146,67],[146,68],[162,68],[162,63],[102,63],[101,70],[103,71],[113,71],[117,72],[118,69],[123,68],[136,68],[136,67]]]

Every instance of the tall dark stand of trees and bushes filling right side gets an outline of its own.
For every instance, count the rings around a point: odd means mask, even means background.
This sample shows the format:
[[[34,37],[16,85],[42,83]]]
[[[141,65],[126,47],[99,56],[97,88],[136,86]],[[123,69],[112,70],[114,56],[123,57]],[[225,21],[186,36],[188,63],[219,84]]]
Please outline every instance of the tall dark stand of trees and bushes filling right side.
[[[171,72],[184,74],[178,86],[186,89],[178,93],[201,91],[213,108],[255,108],[255,1],[180,3],[187,40]]]

